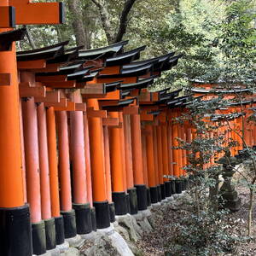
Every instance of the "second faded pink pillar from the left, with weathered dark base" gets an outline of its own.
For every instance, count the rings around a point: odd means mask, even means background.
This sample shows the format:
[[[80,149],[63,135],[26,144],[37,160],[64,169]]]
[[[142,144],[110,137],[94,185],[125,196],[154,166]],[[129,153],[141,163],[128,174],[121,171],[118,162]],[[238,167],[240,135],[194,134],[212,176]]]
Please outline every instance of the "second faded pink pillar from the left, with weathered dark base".
[[[50,208],[49,154],[44,103],[38,103],[38,148],[42,218],[45,224],[46,249],[51,250],[56,247],[56,235],[55,218],[52,218]]]

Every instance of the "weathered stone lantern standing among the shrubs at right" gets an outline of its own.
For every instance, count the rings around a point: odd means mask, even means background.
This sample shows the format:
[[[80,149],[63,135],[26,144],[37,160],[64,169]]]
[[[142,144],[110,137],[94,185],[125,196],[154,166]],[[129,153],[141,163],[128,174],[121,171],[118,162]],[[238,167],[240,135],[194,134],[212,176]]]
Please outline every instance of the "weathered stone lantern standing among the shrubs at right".
[[[224,178],[224,183],[219,189],[218,203],[221,208],[229,209],[231,212],[236,212],[241,207],[241,198],[238,198],[235,186],[231,183],[232,177],[236,172],[234,167],[241,162],[235,157],[230,155],[230,151],[227,150],[222,158],[220,158],[216,163],[223,165],[221,174]]]

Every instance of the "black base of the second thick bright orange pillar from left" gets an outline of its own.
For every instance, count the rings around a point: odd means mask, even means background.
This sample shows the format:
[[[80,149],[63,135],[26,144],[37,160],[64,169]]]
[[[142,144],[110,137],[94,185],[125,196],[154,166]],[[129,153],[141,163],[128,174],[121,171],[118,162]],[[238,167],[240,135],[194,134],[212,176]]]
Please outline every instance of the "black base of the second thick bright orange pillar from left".
[[[110,227],[108,201],[95,201],[93,206],[96,212],[96,228],[107,229]]]

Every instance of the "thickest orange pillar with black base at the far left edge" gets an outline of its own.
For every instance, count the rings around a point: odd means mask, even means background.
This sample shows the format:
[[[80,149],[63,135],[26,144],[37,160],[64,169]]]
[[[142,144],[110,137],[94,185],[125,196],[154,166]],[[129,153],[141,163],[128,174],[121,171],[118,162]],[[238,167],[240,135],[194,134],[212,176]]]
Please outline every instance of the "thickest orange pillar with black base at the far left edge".
[[[0,8],[9,1],[0,0]],[[0,20],[2,17],[0,17]],[[0,32],[6,30],[0,29]],[[0,43],[1,44],[1,43]],[[8,76],[10,83],[3,84]],[[31,256],[29,206],[25,204],[20,145],[20,104],[15,43],[0,51],[0,254]]]

